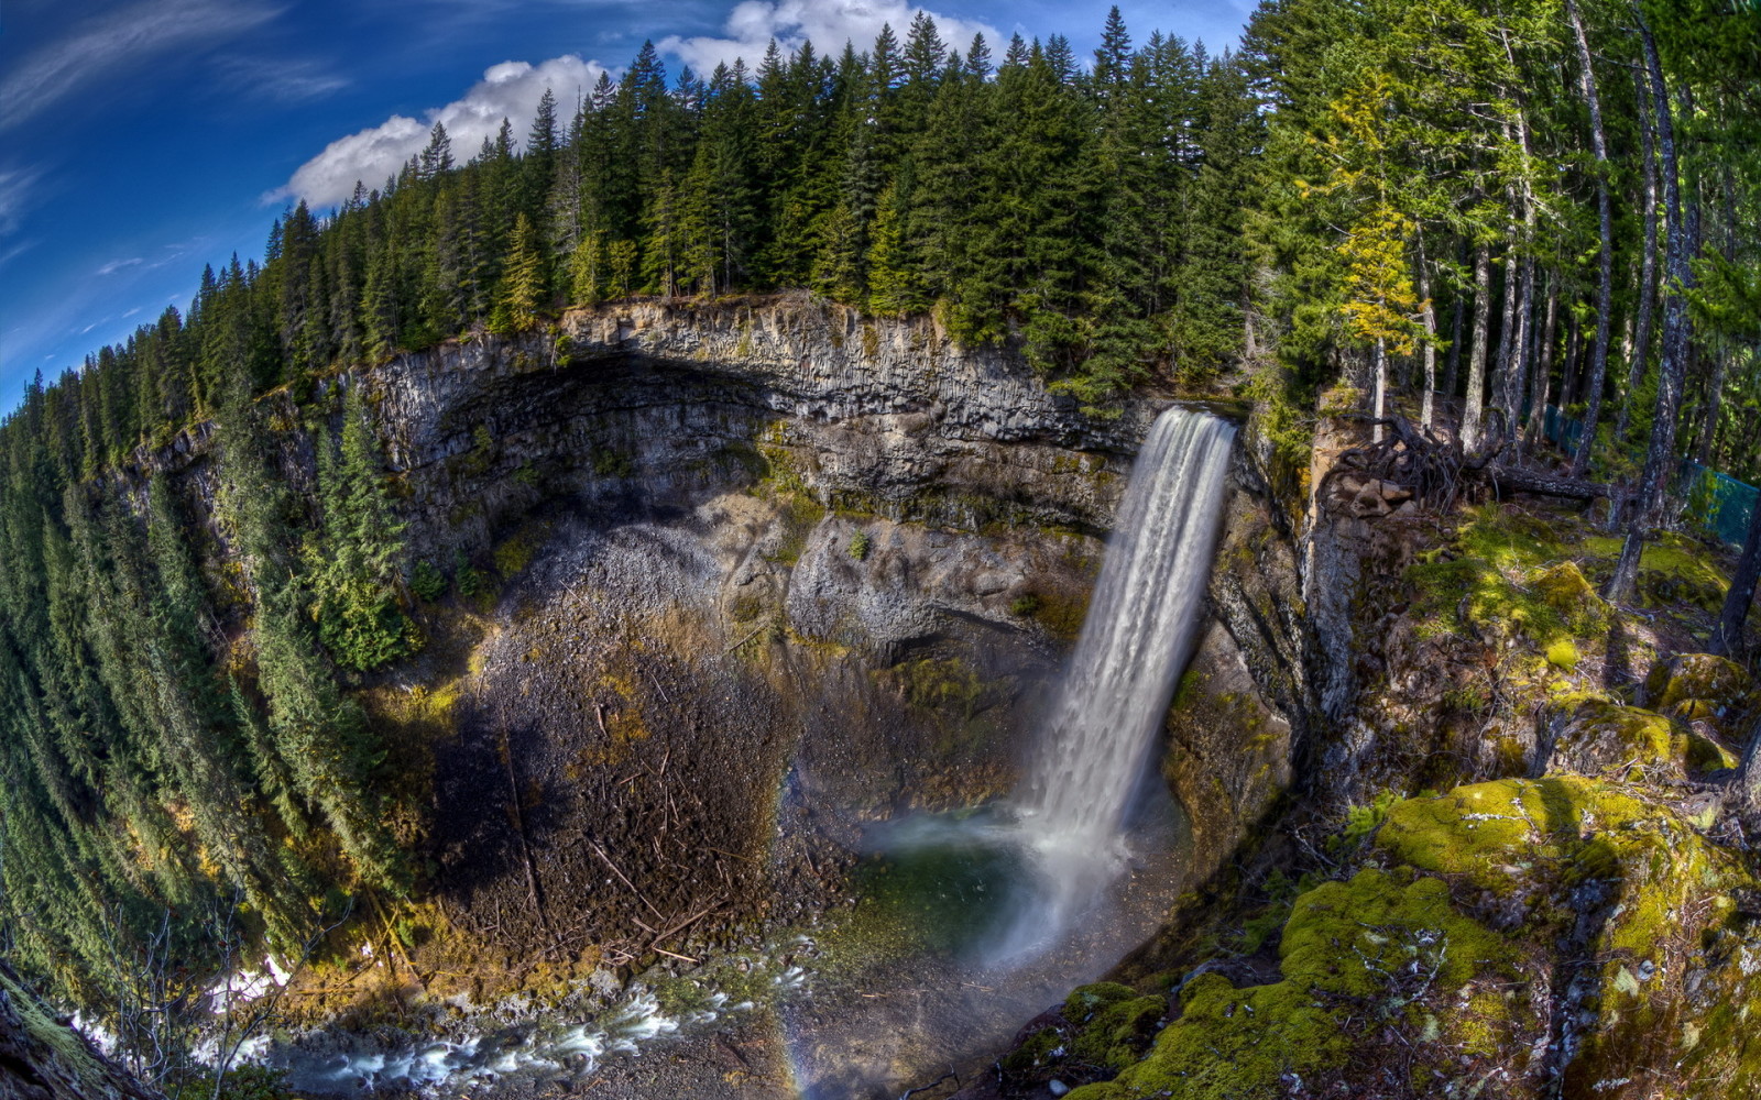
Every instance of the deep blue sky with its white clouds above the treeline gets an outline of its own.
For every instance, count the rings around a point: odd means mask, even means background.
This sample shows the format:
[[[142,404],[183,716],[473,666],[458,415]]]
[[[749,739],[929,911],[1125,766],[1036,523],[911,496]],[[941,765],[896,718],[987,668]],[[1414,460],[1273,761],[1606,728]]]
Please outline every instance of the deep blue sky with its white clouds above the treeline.
[[[942,37],[1099,40],[1106,2],[930,4]],[[1249,0],[1122,4],[1155,28],[1233,46]],[[903,0],[0,0],[0,410],[180,310],[203,264],[261,257],[298,197],[373,187],[435,118],[475,151],[505,113],[525,130],[643,39],[669,72],[755,60],[777,35],[858,49]]]

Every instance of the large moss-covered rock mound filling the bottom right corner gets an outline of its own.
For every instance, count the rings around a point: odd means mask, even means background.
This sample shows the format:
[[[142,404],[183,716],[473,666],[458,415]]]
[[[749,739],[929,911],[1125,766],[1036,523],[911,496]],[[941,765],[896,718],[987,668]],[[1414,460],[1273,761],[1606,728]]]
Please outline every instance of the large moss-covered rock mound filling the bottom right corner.
[[[1761,884],[1647,788],[1405,799],[1368,859],[1296,899],[1277,982],[1192,977],[1143,1061],[1071,1095],[1761,1095],[1761,929],[1738,901]]]

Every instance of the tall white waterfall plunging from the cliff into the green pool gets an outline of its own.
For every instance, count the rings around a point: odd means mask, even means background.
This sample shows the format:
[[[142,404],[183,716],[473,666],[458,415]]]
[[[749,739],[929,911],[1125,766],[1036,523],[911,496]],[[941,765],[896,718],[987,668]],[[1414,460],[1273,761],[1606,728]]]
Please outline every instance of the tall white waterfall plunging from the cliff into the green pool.
[[[1072,898],[1118,850],[1175,683],[1192,655],[1234,428],[1169,408],[1125,486],[1106,563],[1030,778],[1016,799],[1044,873]],[[1081,889],[1078,889],[1078,882]]]

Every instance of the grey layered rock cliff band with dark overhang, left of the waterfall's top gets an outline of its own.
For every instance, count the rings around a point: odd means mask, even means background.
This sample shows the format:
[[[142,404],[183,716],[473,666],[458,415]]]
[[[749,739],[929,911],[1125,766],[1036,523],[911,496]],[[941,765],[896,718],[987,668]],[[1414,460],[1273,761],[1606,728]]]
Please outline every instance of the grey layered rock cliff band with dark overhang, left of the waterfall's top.
[[[1095,421],[928,320],[798,299],[581,310],[556,334],[451,343],[363,382],[431,540],[546,493],[680,502],[768,465],[829,507],[1099,533],[1153,415]]]

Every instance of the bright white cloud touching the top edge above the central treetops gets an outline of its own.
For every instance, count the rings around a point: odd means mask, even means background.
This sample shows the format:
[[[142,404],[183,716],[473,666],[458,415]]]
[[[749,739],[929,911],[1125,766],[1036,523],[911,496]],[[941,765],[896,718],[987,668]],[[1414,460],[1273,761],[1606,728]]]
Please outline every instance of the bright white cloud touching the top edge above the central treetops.
[[[880,26],[891,23],[900,44],[905,32],[921,7],[905,0],[745,0],[734,5],[722,25],[722,37],[699,35],[682,39],[669,35],[659,48],[671,53],[697,72],[708,74],[717,63],[733,63],[745,58],[747,65],[757,65],[764,56],[764,48],[771,39],[782,49],[798,49],[803,40],[812,39],[814,49],[836,56],[845,42],[854,42],[858,51],[873,46]],[[960,19],[930,12],[942,42],[965,53],[974,33],[983,33],[991,48],[998,48],[997,28],[988,23]]]

